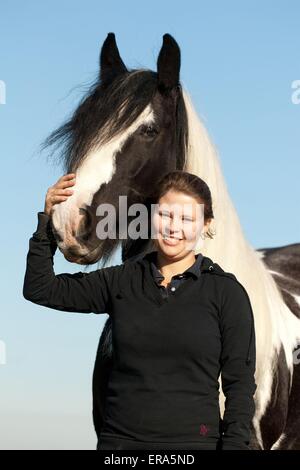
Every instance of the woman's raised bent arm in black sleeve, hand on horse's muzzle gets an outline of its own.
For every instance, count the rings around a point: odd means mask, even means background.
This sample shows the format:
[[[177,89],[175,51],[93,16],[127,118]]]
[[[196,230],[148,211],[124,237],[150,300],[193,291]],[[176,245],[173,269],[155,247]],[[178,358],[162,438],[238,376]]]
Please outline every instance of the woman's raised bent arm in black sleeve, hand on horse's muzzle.
[[[70,181],[70,178],[63,178],[57,184],[64,185]],[[64,189],[61,187],[53,186],[50,189],[44,212],[38,212],[38,226],[29,240],[23,296],[26,300],[56,310],[109,313],[111,289],[116,285],[122,265],[90,273],[55,274],[53,257],[57,244],[51,230],[50,215],[53,205],[67,196],[62,195]]]

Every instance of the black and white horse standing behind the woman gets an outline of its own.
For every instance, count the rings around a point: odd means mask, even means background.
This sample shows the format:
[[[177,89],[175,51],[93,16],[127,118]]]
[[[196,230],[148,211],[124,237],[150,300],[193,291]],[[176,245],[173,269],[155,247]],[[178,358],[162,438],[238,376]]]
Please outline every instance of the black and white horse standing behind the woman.
[[[64,257],[77,264],[102,261],[118,247],[122,262],[153,249],[151,239],[101,239],[97,207],[147,204],[155,182],[172,170],[206,181],[213,200],[216,237],[201,251],[245,286],[254,312],[257,389],[250,448],[300,449],[300,244],[254,249],[243,233],[230,198],[218,152],[180,82],[181,51],[164,34],[157,70],[129,69],[109,33],[100,51],[99,74],[73,115],[46,139],[59,150],[65,171],[76,173],[74,193],[56,205],[53,233]],[[197,246],[195,253],[200,251]],[[93,371],[93,421],[98,439],[113,365],[111,321],[102,330]],[[221,383],[221,382],[220,382]],[[225,397],[220,391],[220,411]]]

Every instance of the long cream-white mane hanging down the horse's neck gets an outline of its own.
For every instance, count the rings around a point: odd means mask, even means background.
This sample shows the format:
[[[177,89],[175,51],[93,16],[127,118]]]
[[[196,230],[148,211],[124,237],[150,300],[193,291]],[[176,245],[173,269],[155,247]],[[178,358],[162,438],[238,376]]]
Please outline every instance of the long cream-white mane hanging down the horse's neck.
[[[261,255],[248,243],[243,233],[236,209],[231,201],[216,147],[198,117],[191,98],[183,93],[189,125],[188,153],[185,170],[204,179],[213,201],[213,240],[200,240],[195,252],[204,252],[245,286],[252,304],[257,354],[256,395],[259,406],[256,417],[261,416],[271,399],[272,377],[276,358],[283,346],[290,377],[293,375],[293,349],[300,337],[299,320],[284,302],[274,278],[261,259]],[[291,381],[292,383],[292,381]],[[254,419],[254,423],[259,418]],[[259,437],[259,429],[257,428]]]

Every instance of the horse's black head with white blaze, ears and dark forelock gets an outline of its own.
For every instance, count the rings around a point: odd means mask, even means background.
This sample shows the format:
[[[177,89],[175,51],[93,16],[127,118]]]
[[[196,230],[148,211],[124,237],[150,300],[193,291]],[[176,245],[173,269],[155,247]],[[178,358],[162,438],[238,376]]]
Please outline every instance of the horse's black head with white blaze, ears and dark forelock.
[[[164,173],[184,168],[187,117],[179,71],[180,49],[170,35],[164,35],[153,72],[128,70],[114,34],[108,34],[96,83],[46,142],[64,144],[65,170],[76,173],[73,195],[55,205],[52,214],[58,247],[67,260],[106,261],[120,239],[118,230],[116,238],[97,236],[104,217],[97,213],[99,205],[115,208],[117,228],[119,196],[127,197],[128,207],[144,203]]]

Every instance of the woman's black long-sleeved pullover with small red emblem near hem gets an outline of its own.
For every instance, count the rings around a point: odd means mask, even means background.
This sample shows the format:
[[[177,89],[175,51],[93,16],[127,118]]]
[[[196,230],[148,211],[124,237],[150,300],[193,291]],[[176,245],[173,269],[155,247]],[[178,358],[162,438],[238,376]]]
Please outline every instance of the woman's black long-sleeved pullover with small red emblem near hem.
[[[248,294],[237,278],[203,256],[201,276],[189,277],[164,299],[149,253],[90,273],[55,275],[50,219],[38,213],[38,222],[29,241],[24,297],[112,319],[114,361],[103,437],[195,449],[212,448],[221,439],[223,450],[248,449],[255,330]]]

